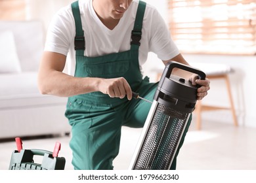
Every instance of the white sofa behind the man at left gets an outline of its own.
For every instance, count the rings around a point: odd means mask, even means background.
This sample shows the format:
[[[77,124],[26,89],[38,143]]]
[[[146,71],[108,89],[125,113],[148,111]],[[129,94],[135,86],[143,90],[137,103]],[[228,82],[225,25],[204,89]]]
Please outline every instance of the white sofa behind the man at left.
[[[0,21],[0,139],[70,133],[67,98],[37,88],[43,30],[39,21]]]

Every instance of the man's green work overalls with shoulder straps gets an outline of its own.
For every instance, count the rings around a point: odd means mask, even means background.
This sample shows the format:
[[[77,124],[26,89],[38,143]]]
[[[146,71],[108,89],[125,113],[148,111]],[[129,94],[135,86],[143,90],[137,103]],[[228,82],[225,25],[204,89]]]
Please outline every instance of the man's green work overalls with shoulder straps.
[[[148,77],[143,79],[139,69],[140,39],[137,38],[141,36],[145,8],[146,3],[140,1],[130,50],[89,58],[84,56],[79,5],[77,1],[72,3],[77,41],[75,77],[123,77],[134,92],[152,101],[157,83],[150,83]],[[150,107],[150,103],[141,100],[111,98],[101,92],[69,97],[65,115],[72,125],[70,148],[74,169],[113,169],[112,161],[119,152],[121,127],[143,127]],[[175,167],[176,157],[171,169]]]

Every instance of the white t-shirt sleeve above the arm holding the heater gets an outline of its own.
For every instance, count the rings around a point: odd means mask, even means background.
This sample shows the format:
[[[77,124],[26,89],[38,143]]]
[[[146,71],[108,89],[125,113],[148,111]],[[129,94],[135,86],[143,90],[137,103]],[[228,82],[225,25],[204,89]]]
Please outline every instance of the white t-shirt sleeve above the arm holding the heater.
[[[171,39],[171,33],[165,21],[156,9],[152,14],[150,34],[150,52],[154,52],[159,59],[168,60],[179,54],[179,49]]]

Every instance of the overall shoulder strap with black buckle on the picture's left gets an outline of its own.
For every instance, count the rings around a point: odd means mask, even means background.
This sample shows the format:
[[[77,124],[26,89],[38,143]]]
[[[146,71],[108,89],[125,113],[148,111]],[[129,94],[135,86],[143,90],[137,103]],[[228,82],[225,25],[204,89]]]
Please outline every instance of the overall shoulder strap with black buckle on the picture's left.
[[[72,3],[71,7],[75,20],[75,50],[85,50],[85,37],[83,35],[83,28],[81,23],[81,15],[78,1]]]

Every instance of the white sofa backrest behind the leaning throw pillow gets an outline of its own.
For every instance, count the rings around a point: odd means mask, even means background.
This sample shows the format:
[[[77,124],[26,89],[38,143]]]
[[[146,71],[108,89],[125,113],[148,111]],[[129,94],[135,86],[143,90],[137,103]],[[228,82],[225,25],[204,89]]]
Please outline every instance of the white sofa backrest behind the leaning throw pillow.
[[[11,31],[14,35],[22,72],[37,71],[43,53],[43,22],[0,21],[0,32],[3,31]]]

